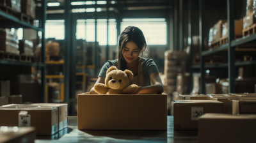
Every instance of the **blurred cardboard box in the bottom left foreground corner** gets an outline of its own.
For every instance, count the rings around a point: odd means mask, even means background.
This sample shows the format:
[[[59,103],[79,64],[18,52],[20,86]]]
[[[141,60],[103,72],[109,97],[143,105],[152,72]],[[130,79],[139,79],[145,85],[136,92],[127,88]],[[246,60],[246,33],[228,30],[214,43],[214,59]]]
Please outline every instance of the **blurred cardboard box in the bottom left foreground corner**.
[[[36,138],[36,130],[34,127],[17,127],[17,126],[1,126],[0,127],[0,142],[34,143],[35,138]]]

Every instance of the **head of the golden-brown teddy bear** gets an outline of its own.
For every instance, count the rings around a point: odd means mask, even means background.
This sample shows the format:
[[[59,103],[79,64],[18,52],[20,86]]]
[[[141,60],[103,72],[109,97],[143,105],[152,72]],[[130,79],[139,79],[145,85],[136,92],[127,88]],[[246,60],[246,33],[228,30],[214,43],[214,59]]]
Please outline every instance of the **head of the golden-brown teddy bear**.
[[[122,90],[129,86],[130,80],[133,79],[131,70],[117,70],[116,66],[111,66],[106,74],[105,85],[108,88]]]

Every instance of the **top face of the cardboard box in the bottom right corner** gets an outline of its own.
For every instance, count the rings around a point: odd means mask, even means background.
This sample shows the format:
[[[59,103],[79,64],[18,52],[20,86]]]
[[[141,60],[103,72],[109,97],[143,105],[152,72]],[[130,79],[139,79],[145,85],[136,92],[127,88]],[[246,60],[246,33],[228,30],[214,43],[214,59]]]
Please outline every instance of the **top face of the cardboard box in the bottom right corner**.
[[[231,115],[231,114],[217,114],[206,113],[198,119],[255,119],[256,115]]]

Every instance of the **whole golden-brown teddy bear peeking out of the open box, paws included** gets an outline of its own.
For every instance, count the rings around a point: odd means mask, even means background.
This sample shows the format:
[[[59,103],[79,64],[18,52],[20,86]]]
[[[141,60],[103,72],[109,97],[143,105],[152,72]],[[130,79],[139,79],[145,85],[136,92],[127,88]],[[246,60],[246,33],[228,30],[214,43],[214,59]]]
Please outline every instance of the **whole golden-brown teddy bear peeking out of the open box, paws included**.
[[[94,89],[99,94],[134,94],[138,90],[136,84],[129,86],[133,79],[131,70],[117,70],[116,66],[111,66],[107,73],[105,84],[97,83]]]

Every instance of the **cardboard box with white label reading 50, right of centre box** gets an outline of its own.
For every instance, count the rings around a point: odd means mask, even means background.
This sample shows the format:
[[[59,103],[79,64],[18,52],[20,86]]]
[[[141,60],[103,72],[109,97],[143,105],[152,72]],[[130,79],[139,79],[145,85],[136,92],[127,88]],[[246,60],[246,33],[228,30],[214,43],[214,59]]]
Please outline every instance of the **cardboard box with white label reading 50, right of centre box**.
[[[174,130],[196,130],[198,117],[205,113],[222,113],[223,103],[210,100],[175,100],[173,105]]]

